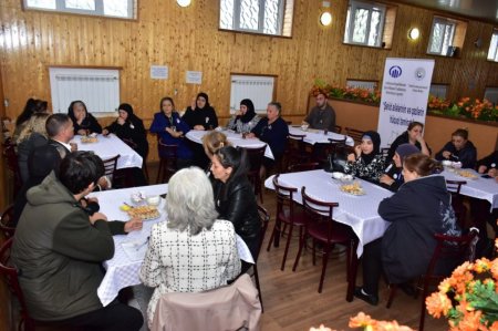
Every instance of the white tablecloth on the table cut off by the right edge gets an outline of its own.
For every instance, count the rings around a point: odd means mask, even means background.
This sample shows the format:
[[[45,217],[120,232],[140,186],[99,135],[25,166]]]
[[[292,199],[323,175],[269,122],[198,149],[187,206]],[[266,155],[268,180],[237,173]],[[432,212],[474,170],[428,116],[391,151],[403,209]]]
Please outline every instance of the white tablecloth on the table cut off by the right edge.
[[[481,174],[477,174],[474,169],[465,169],[467,172],[474,173],[478,176],[476,179],[467,178],[459,176],[454,172],[449,172],[445,169],[442,175],[445,176],[448,180],[465,180],[467,184],[461,185],[460,194],[488,200],[491,204],[492,208],[498,208],[498,183],[496,183],[495,178],[483,178]]]

